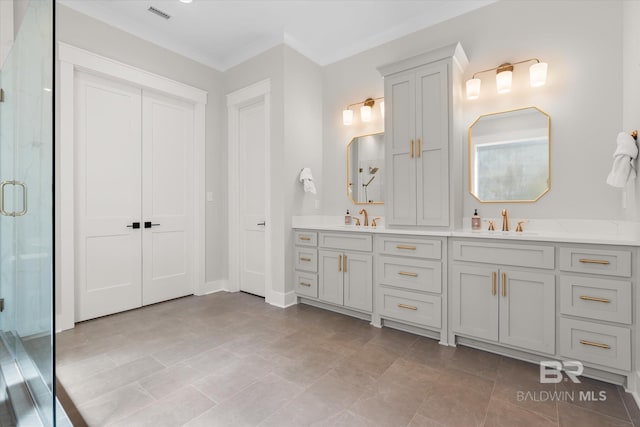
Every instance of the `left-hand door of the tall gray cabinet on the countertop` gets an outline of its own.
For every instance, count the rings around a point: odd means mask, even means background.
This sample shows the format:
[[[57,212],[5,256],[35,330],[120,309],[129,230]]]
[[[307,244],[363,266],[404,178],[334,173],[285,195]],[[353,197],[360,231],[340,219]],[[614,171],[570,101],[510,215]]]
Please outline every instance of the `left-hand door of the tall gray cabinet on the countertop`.
[[[387,115],[385,167],[387,224],[416,224],[415,77],[398,74],[385,79]],[[413,141],[413,144],[411,143]]]

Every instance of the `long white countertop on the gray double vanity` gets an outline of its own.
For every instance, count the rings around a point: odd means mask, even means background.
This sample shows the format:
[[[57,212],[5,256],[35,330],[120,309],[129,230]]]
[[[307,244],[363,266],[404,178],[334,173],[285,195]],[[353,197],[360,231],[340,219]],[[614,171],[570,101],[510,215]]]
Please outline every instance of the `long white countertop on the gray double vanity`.
[[[640,223],[603,220],[530,220],[525,231],[427,230],[386,227],[364,227],[340,224],[344,217],[294,216],[292,228],[318,231],[340,231],[408,236],[464,237],[478,239],[522,240],[537,242],[589,243],[600,245],[640,246]],[[468,222],[468,221],[467,221]],[[496,221],[496,224],[499,224]],[[515,228],[515,225],[512,227]]]

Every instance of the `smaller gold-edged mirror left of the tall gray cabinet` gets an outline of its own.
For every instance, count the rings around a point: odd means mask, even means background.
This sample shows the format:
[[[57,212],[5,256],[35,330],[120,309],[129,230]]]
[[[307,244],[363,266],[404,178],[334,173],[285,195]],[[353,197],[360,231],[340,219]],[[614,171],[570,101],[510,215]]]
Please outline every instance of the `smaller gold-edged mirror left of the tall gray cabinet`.
[[[347,196],[356,205],[384,203],[384,133],[356,136],[347,145]]]

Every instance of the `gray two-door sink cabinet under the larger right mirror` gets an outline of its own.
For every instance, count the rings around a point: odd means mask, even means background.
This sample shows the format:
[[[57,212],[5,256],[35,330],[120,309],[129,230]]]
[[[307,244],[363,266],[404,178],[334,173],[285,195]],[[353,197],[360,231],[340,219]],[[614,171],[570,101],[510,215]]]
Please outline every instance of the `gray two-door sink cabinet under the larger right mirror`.
[[[453,240],[455,334],[555,353],[555,248]]]

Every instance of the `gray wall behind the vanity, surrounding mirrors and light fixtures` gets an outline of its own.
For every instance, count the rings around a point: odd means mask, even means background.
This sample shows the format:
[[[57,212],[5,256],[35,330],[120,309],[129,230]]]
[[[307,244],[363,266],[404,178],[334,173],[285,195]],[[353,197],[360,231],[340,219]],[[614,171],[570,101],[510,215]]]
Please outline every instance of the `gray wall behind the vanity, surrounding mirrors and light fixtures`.
[[[368,96],[382,96],[377,66],[460,41],[470,61],[465,79],[506,61],[539,57],[549,63],[547,85],[541,88],[529,87],[527,64],[516,66],[512,92],[505,95],[495,93],[492,73],[482,74],[480,99],[465,99],[462,106],[465,127],[478,115],[529,105],[551,115],[551,191],[534,204],[498,205],[481,204],[465,192],[464,214],[478,208],[481,215],[495,217],[507,207],[513,219],[624,218],[620,191],[605,183],[623,125],[622,9],[619,1],[501,1],[325,67],[324,213],[353,209],[344,184],[346,145],[354,135],[383,127],[381,121],[343,126],[341,111]],[[632,58],[636,71],[629,80],[638,75],[637,52]],[[633,114],[640,117],[637,110]],[[464,139],[454,143],[466,153],[464,130]],[[466,183],[466,158],[464,165],[456,173]],[[383,214],[381,207],[369,210]]]

